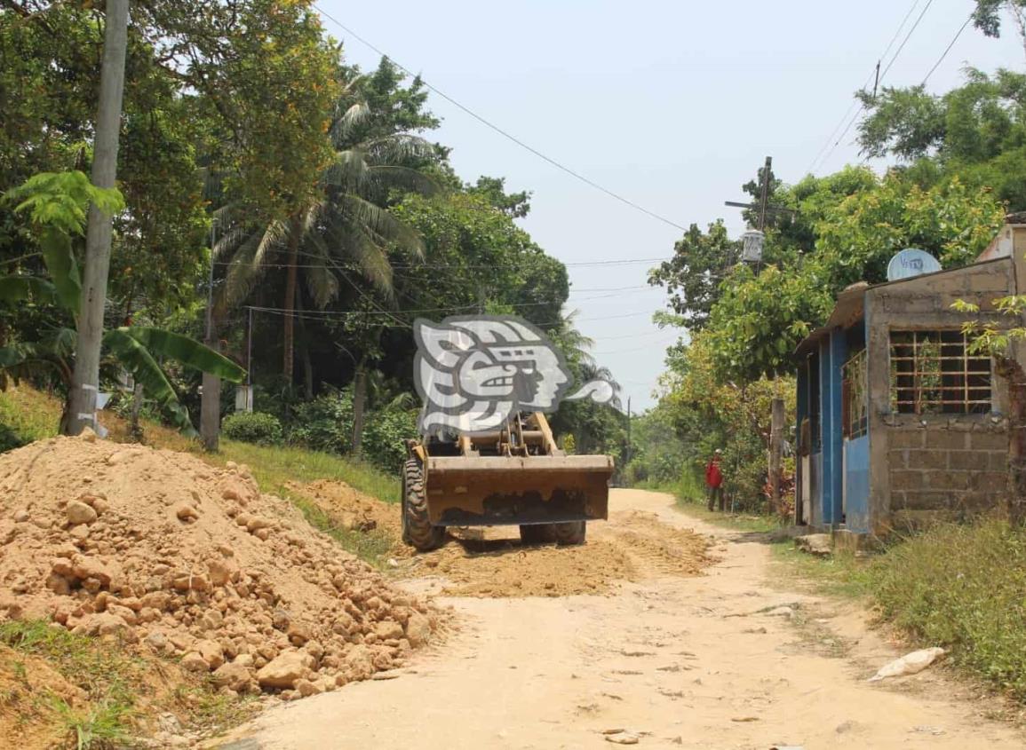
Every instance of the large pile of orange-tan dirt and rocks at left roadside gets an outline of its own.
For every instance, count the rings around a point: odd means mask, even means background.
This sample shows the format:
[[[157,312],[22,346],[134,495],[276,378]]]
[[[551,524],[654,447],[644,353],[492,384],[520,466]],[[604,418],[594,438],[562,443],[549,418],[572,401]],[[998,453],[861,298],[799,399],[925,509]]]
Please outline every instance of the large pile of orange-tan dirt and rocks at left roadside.
[[[0,620],[52,618],[299,697],[401,665],[437,613],[245,466],[56,437],[0,456]]]

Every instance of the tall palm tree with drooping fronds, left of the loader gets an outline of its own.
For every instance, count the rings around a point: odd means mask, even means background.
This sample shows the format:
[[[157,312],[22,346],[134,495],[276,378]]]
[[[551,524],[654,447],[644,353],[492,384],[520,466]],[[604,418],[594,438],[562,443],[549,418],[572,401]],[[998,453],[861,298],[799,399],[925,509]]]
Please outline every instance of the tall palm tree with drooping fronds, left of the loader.
[[[324,308],[339,293],[339,274],[353,265],[386,297],[392,294],[388,247],[418,256],[422,238],[386,207],[390,191],[431,193],[434,182],[407,166],[434,156],[433,147],[409,133],[361,138],[361,123],[370,115],[362,100],[352,101],[357,81],[350,83],[329,135],[334,157],[320,177],[319,191],[289,217],[265,224],[233,225],[233,207],[219,220],[229,231],[214,245],[214,257],[228,257],[223,302],[245,299],[267,268],[284,254],[285,296],[282,373],[291,382],[294,362],[295,301],[301,265],[314,303]],[[303,261],[300,262],[302,255]]]

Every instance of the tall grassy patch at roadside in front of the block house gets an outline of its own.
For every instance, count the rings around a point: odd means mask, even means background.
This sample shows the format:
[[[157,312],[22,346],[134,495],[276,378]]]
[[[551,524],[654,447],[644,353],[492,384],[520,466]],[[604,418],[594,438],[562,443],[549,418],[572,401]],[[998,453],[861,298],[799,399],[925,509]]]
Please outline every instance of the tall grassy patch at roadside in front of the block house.
[[[938,525],[893,547],[869,577],[884,616],[1026,699],[1026,531]]]

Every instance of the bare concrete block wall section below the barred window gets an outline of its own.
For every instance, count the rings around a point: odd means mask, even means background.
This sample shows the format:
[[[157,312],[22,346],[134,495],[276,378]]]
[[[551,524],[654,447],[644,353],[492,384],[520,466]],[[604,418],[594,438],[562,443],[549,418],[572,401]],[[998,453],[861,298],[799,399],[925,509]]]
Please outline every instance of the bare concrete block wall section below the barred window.
[[[1003,502],[1009,457],[1003,421],[885,429],[892,513],[964,516]]]

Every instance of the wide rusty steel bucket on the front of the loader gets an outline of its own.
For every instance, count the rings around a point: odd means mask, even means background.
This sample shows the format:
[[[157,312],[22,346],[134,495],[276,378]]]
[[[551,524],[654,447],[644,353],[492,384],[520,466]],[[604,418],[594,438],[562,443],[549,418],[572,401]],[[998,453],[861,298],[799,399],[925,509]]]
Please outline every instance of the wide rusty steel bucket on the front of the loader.
[[[428,515],[435,526],[604,519],[609,456],[431,456]]]

